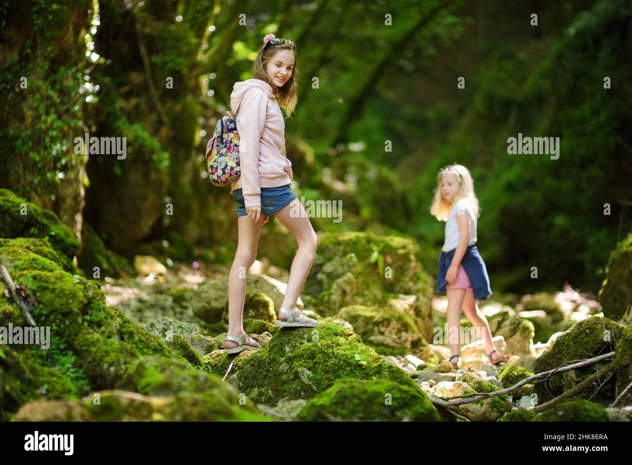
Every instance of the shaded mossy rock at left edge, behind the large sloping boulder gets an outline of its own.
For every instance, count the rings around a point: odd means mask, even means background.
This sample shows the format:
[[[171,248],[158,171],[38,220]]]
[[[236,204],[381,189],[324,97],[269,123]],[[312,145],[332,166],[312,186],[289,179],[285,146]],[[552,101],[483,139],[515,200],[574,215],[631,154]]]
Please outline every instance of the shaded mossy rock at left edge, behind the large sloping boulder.
[[[73,257],[78,251],[79,241],[72,230],[61,223],[56,214],[27,202],[7,189],[0,189],[0,237],[45,239],[58,255],[56,261],[64,270],[73,271]]]

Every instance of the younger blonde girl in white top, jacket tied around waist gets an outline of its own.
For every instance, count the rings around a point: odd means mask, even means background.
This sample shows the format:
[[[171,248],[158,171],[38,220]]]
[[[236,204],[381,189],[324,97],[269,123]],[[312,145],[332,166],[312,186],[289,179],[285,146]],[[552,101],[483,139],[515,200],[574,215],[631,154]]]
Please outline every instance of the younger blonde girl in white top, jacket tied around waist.
[[[446,240],[439,256],[437,292],[447,294],[448,345],[454,354],[449,361],[459,365],[458,335],[461,333],[461,307],[475,328],[482,333],[487,363],[497,364],[506,359],[494,347],[492,332],[476,300],[485,301],[492,295],[487,268],[478,254],[478,199],[470,171],[461,164],[450,164],[437,175],[437,189],[430,213],[446,221]],[[446,290],[447,288],[447,290]]]

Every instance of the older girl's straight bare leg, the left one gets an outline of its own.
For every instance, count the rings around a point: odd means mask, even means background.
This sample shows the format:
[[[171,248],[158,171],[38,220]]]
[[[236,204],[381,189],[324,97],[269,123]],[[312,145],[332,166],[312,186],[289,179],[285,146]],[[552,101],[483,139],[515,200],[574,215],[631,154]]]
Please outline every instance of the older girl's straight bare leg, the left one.
[[[261,223],[255,224],[250,216],[237,218],[237,252],[228,276],[228,336],[240,337],[243,334],[243,304],[246,299],[246,281],[248,270],[257,258],[257,244],[261,233]],[[244,344],[259,347],[255,340],[246,338]],[[227,349],[237,347],[235,341],[225,340]]]

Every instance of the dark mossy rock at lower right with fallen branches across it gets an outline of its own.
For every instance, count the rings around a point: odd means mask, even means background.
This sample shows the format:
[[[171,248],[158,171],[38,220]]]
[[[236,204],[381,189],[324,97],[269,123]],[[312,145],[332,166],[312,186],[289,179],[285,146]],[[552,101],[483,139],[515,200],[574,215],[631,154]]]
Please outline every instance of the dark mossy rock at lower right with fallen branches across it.
[[[552,347],[535,360],[535,373],[542,373],[560,366],[565,362],[588,359],[599,356],[611,350],[617,350],[617,344],[623,335],[623,325],[608,318],[593,316],[575,323],[571,328],[561,334]],[[603,368],[607,361],[593,364],[585,368],[554,373],[546,380],[535,383],[535,392],[540,404],[561,395],[563,392],[575,387],[588,376]],[[611,380],[602,384],[595,381],[593,385],[575,394],[573,399],[586,399],[591,397],[597,388],[601,395],[610,397],[614,395],[614,376]]]

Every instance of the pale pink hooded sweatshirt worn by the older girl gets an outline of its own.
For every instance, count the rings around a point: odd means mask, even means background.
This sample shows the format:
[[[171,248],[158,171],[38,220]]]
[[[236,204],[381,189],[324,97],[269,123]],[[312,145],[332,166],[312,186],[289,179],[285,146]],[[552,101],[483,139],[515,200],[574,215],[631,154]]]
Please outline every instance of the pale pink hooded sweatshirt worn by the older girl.
[[[247,95],[246,95],[247,94]],[[231,113],[237,115],[241,176],[231,183],[243,189],[246,207],[261,206],[261,187],[292,183],[292,163],[285,156],[285,121],[272,94],[272,87],[260,79],[236,82],[231,93]]]

